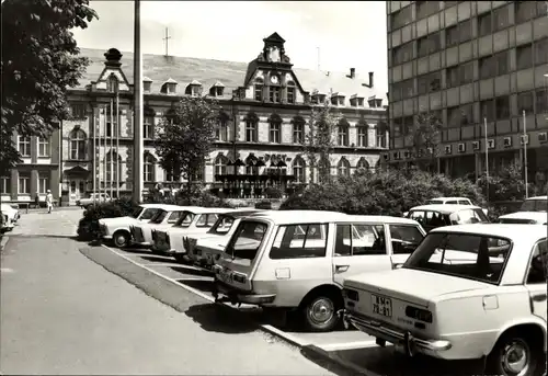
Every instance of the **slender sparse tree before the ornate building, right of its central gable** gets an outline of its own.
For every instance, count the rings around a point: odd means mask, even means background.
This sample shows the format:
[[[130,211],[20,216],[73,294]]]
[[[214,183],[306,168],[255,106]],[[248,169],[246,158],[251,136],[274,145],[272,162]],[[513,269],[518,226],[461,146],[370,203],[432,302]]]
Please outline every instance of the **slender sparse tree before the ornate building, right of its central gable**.
[[[329,102],[311,111],[302,151],[311,171],[317,169],[319,183],[329,182],[331,178],[331,153],[338,122],[339,116],[333,114]]]

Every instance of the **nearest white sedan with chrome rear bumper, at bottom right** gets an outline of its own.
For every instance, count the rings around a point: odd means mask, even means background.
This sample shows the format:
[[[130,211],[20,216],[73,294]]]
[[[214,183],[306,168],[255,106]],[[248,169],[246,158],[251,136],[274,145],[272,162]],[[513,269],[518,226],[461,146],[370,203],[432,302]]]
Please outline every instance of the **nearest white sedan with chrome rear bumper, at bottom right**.
[[[411,356],[486,356],[487,374],[540,375],[547,255],[546,226],[436,228],[402,267],[346,278],[344,318]]]

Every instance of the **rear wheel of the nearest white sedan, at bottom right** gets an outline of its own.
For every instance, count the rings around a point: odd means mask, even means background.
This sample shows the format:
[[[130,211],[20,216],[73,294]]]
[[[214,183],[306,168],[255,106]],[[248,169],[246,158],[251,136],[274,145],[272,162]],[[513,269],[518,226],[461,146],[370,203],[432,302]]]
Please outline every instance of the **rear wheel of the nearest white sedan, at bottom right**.
[[[536,376],[543,364],[543,343],[517,330],[503,334],[488,355],[487,372],[503,376]]]

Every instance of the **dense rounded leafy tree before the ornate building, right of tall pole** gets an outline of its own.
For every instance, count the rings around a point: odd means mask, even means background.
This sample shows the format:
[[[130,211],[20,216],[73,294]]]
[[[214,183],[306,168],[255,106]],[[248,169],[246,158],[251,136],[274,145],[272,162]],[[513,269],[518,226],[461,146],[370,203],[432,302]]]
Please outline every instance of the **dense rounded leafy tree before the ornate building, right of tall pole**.
[[[215,140],[219,107],[210,99],[191,96],[181,99],[173,110],[159,125],[156,150],[164,170],[189,182],[191,195],[192,181],[204,168]]]

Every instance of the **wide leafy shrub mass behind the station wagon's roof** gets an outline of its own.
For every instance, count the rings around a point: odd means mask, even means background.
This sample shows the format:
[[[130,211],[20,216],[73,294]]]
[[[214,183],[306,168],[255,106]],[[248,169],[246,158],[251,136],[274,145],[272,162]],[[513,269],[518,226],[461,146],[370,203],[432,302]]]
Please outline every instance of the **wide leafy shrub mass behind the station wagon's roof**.
[[[467,180],[452,180],[415,170],[390,170],[311,185],[302,193],[287,198],[279,209],[401,216],[411,207],[438,196],[464,196],[478,205],[484,204],[480,190]]]

